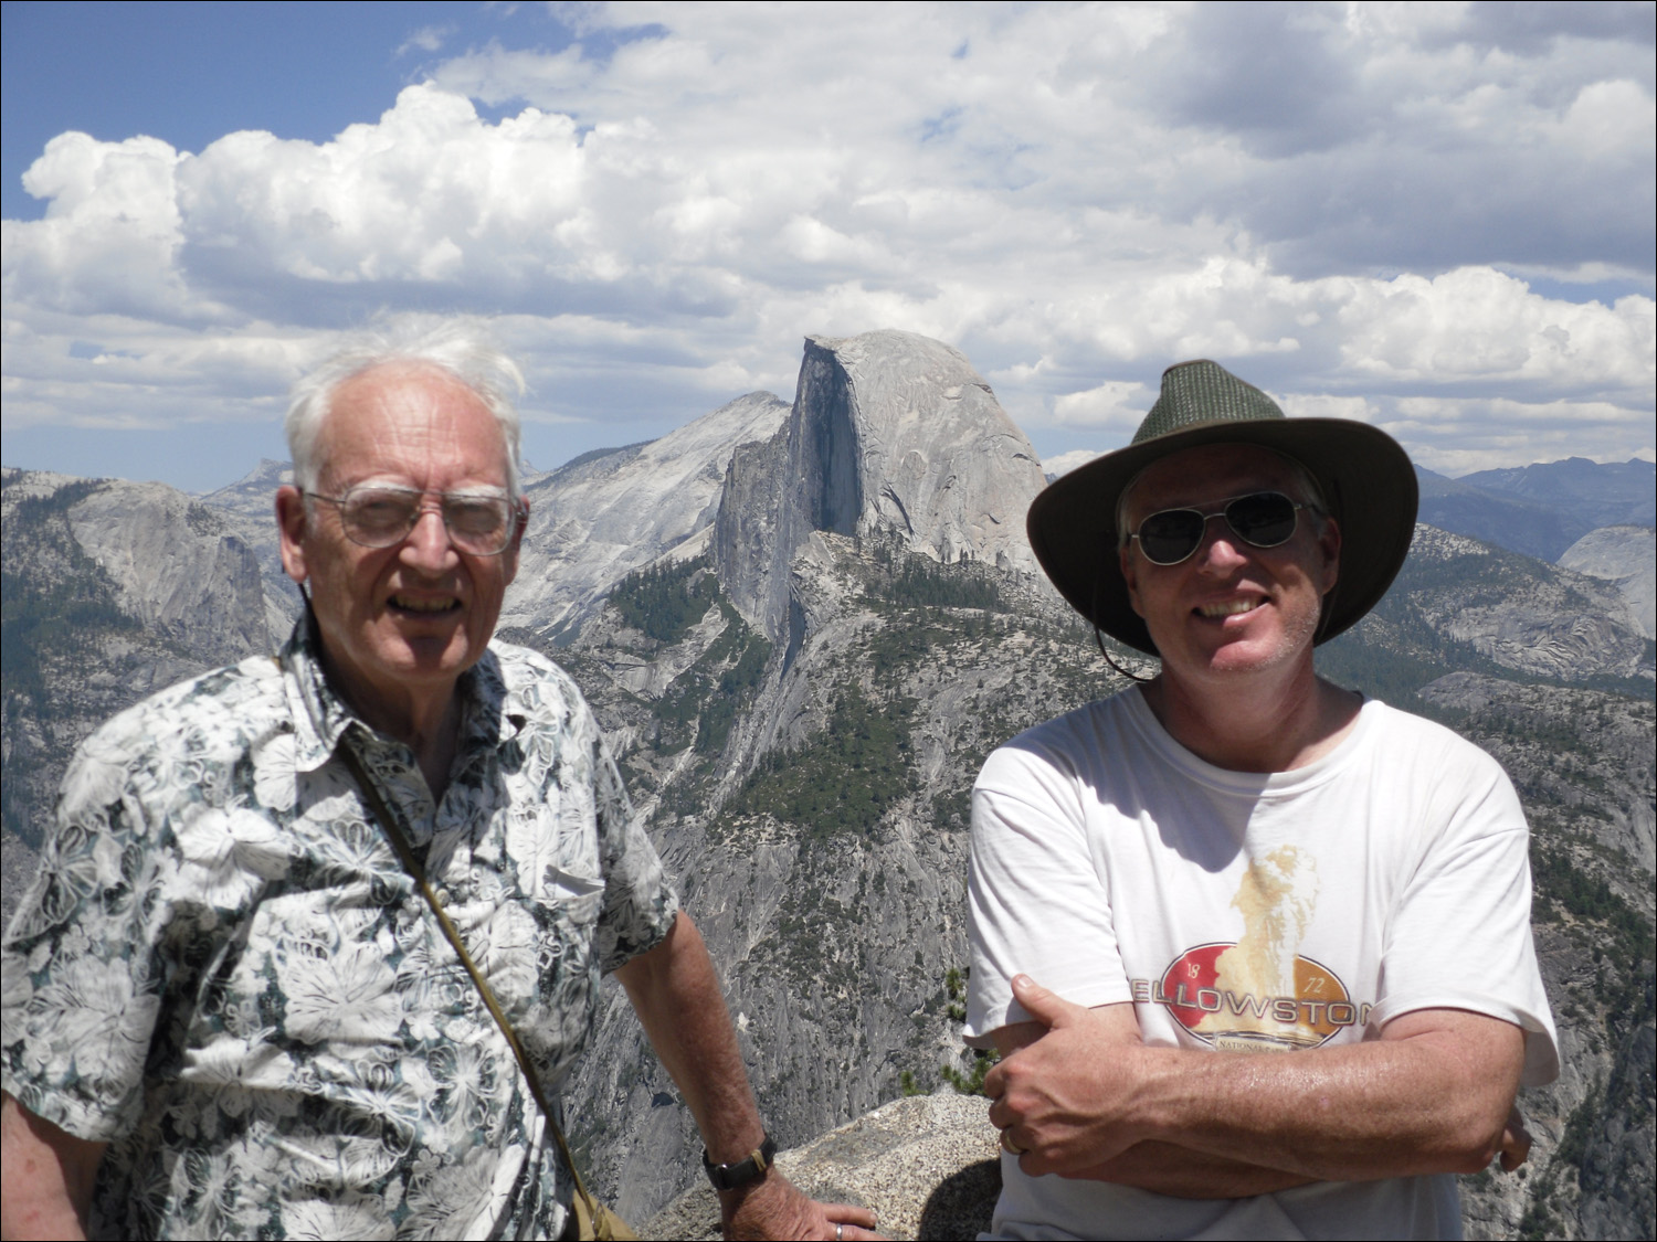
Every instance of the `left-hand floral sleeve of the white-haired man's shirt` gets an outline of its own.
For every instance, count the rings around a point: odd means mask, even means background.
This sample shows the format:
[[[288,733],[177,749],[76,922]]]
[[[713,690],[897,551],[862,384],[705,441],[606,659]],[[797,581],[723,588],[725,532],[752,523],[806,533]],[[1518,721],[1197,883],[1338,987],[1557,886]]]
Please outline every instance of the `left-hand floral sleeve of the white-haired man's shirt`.
[[[5,1090],[94,1143],[138,1121],[166,985],[167,861],[149,848],[152,825],[131,792],[134,729],[134,714],[118,715],[71,762],[0,951]]]

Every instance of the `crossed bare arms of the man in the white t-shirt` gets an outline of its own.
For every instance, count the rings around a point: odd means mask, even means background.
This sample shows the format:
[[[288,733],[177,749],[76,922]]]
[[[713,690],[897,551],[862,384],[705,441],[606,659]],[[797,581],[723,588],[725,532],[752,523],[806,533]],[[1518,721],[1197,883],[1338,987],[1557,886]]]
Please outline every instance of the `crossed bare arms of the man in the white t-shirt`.
[[[1524,1035],[1498,1018],[1420,1010],[1365,1043],[1206,1053],[1145,1047],[1125,1005],[1087,1010],[1022,980],[1014,992],[1044,1025],[984,1090],[1032,1176],[1229,1197],[1523,1159],[1510,1118]]]

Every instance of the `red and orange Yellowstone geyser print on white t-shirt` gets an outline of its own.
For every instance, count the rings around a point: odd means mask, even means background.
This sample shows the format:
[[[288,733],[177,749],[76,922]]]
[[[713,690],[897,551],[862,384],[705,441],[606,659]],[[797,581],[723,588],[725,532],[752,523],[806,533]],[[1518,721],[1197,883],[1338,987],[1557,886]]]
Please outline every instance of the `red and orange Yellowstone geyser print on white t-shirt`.
[[[1238,941],[1186,949],[1155,984],[1135,979],[1133,999],[1167,1005],[1221,1052],[1316,1048],[1369,1017],[1334,970],[1299,952],[1317,909],[1309,853],[1281,846],[1253,859],[1231,906],[1243,914]]]

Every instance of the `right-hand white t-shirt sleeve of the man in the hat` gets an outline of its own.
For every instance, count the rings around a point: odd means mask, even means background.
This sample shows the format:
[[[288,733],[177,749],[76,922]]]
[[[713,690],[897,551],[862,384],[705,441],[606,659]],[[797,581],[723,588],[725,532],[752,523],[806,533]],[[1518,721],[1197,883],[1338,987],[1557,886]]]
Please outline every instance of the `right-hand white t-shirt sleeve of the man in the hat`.
[[[1531,937],[1529,831],[1513,783],[1466,742],[1471,762],[1442,768],[1428,821],[1447,828],[1422,854],[1387,921],[1385,1025],[1422,1009],[1463,1009],[1524,1032],[1526,1086],[1559,1076],[1558,1035]]]

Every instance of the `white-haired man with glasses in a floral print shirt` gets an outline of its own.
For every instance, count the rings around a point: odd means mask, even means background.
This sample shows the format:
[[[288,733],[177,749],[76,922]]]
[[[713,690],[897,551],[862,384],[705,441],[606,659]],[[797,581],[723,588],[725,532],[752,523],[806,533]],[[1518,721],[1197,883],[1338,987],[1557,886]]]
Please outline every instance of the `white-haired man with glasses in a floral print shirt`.
[[[467,325],[303,381],[277,520],[307,616],[76,757],[5,942],[8,1235],[573,1235],[540,1100],[605,970],[696,1114],[727,1237],[873,1224],[771,1169],[592,712],[490,643],[527,515],[510,384]]]

